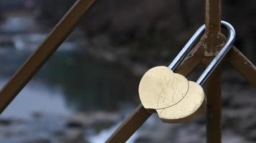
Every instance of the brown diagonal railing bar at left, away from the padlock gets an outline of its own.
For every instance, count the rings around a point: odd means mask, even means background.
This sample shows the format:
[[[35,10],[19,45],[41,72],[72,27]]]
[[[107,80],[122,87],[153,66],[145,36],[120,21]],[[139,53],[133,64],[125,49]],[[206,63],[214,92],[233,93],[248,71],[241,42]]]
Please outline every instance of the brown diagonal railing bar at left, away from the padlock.
[[[29,59],[16,71],[9,82],[1,89],[0,113],[6,109],[8,104],[11,103],[27,82],[32,79],[45,61],[47,61],[60,44],[65,41],[94,1],[95,0],[77,0],[54,29],[52,29],[49,36],[47,36],[38,49],[34,51],[34,53],[29,56]]]

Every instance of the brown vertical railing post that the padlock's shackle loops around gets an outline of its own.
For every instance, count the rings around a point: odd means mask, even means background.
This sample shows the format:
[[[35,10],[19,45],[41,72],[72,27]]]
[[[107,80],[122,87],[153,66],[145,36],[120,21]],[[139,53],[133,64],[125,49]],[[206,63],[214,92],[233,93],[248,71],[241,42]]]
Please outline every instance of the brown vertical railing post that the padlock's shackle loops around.
[[[203,64],[208,64],[224,44],[224,36],[221,34],[221,0],[206,1],[206,26],[206,34],[202,40],[203,45],[205,45]],[[207,143],[222,142],[221,84],[219,65],[207,80]]]

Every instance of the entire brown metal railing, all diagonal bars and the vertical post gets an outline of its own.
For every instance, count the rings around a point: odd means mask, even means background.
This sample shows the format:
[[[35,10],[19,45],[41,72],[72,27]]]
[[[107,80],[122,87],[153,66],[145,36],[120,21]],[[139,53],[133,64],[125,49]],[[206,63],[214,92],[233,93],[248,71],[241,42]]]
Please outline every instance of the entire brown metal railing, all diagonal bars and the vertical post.
[[[67,11],[59,23],[54,26],[49,36],[42,42],[29,59],[11,77],[9,82],[0,91],[0,112],[11,103],[23,87],[29,82],[34,74],[39,71],[42,65],[49,59],[54,51],[62,44],[67,36],[77,25],[78,21],[86,14],[95,0],[77,0]],[[224,43],[225,38],[221,34],[221,0],[206,0],[206,32],[195,50],[190,52],[190,56],[178,66],[176,72],[187,76],[199,64],[207,65],[217,54],[219,48]],[[204,45],[204,46],[202,46]],[[202,52],[203,51],[203,52]],[[205,51],[205,52],[204,52]],[[207,53],[211,51],[212,54]],[[242,74],[248,82],[256,87],[256,67],[234,46],[227,54],[229,63]],[[220,66],[207,80],[207,142],[221,142],[221,81]],[[214,88],[213,88],[214,87]],[[125,142],[146,122],[151,116],[150,112],[140,104],[130,117],[125,119],[123,124],[112,134],[107,142]]]

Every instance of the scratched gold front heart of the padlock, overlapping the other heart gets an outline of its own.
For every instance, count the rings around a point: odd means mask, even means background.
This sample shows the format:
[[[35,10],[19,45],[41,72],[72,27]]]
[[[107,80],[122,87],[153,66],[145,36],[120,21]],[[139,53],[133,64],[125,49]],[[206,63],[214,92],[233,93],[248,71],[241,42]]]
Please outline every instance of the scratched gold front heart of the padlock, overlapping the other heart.
[[[143,75],[139,95],[146,109],[171,107],[186,95],[188,81],[166,66],[156,66]]]

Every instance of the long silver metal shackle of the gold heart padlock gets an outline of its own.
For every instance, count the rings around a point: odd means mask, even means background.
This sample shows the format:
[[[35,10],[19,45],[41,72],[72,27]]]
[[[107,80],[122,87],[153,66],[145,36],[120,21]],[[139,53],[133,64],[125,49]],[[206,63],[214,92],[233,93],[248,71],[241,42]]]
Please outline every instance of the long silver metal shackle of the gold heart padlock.
[[[225,29],[228,31],[228,37],[226,44],[223,46],[223,48],[219,51],[219,54],[212,60],[212,62],[207,66],[207,69],[204,70],[203,74],[199,77],[199,79],[196,81],[197,84],[202,85],[204,82],[208,79],[209,75],[212,74],[212,71],[218,66],[219,62],[222,61],[224,56],[227,54],[229,49],[231,49],[234,39],[235,39],[235,31],[234,27],[229,24],[226,21],[221,21],[222,26],[224,26]],[[196,33],[189,39],[189,41],[186,43],[183,49],[179,52],[179,54],[175,57],[174,61],[171,62],[169,65],[169,69],[175,70],[181,64],[181,61],[184,60],[184,58],[189,54],[189,51],[193,49],[194,45],[196,44],[196,41],[199,40],[199,38],[204,34],[204,31],[206,29],[206,26],[201,26]]]

